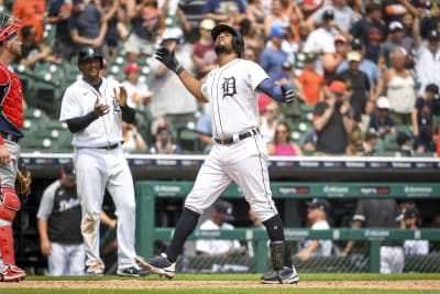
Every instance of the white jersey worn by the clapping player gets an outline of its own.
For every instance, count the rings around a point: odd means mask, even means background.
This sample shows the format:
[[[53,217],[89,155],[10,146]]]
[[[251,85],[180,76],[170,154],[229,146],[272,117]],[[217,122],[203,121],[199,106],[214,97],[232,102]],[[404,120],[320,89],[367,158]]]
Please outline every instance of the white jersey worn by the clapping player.
[[[61,121],[84,117],[95,109],[97,97],[101,104],[110,106],[110,112],[92,121],[86,129],[74,133],[75,146],[107,146],[122,142],[121,108],[113,89],[119,91],[119,83],[114,79],[101,78],[99,92],[84,79],[70,85],[64,94]]]

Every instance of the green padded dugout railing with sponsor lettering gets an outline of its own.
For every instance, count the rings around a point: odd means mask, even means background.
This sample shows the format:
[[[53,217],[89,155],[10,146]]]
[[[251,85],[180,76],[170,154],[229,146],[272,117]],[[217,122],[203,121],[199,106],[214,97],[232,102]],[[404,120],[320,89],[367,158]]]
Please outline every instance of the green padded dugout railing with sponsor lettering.
[[[169,241],[174,228],[156,228],[156,197],[185,197],[194,182],[144,181],[135,183],[136,192],[136,251],[142,255],[154,254],[155,241]],[[276,198],[440,198],[438,183],[271,183],[273,197]],[[243,197],[240,188],[231,184],[221,195],[226,198]],[[243,198],[244,199],[244,198]],[[440,241],[440,229],[383,229],[383,228],[334,228],[331,230],[309,230],[286,228],[287,241],[333,240],[367,241],[369,271],[380,272],[380,247],[384,240],[430,240]],[[254,271],[263,273],[268,269],[267,233],[262,229],[235,228],[234,230],[200,231],[196,230],[189,240],[231,239],[255,242]],[[430,258],[432,262],[438,257]],[[186,266],[179,260],[178,269]],[[435,268],[435,271],[438,271]]]

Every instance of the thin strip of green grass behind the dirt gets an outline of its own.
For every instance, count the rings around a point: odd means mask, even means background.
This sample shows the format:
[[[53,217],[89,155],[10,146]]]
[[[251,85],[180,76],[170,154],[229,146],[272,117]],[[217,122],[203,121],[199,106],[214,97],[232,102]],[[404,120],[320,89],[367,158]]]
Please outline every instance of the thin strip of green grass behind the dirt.
[[[173,281],[258,281],[261,274],[177,274]],[[133,279],[133,277],[130,277]],[[88,276],[43,276],[30,275],[26,281],[106,281],[106,280],[130,280],[118,275],[106,275],[103,277]],[[139,277],[138,277],[139,279]],[[440,280],[440,273],[299,273],[300,281],[403,281],[403,280]],[[158,275],[152,274],[142,277],[146,281],[161,280]],[[166,280],[166,279],[162,279]]]

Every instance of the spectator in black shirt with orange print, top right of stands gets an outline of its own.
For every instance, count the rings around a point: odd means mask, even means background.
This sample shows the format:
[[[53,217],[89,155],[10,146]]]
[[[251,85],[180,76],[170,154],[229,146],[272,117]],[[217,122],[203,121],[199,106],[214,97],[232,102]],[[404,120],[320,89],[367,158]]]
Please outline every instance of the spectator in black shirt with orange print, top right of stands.
[[[365,42],[365,58],[377,63],[381,42],[384,39],[384,28],[382,25],[382,7],[376,2],[366,6],[365,18],[358,21],[351,33],[354,39]],[[355,50],[352,47],[352,50]]]

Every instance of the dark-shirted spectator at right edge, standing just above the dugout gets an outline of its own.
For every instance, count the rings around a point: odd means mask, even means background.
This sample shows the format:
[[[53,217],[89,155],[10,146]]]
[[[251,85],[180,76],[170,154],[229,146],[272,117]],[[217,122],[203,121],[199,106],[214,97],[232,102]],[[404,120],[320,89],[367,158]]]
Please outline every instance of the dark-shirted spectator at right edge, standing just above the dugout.
[[[435,102],[439,96],[439,87],[429,84],[425,88],[425,94],[417,98],[413,109],[413,134],[415,137],[414,150],[417,153],[436,151],[436,126],[433,124]]]

